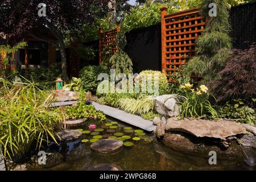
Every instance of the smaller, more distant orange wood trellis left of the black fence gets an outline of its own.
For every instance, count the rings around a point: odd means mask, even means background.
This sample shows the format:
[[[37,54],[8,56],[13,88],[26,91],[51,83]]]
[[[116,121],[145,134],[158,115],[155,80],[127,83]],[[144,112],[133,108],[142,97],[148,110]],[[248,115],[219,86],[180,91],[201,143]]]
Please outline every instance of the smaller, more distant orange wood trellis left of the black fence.
[[[103,32],[102,28],[100,28],[100,38],[99,38],[99,64],[102,63],[102,53],[104,48],[111,46],[112,53],[114,55],[115,52],[118,51],[117,45],[115,45],[115,38],[117,36],[117,32],[120,31],[120,23],[117,23],[117,28],[115,30],[110,30],[107,32]]]

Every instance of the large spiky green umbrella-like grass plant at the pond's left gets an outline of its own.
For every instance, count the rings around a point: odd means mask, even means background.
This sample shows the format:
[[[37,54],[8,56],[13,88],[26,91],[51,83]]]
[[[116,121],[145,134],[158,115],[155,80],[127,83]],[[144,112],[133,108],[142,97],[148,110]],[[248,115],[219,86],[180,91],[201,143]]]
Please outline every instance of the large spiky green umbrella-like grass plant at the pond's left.
[[[35,84],[16,87],[2,78],[0,82],[0,144],[3,155],[15,162],[23,162],[31,150],[40,149],[43,143],[51,140],[56,142],[54,127],[64,119],[64,115],[60,107],[47,107],[53,97]]]

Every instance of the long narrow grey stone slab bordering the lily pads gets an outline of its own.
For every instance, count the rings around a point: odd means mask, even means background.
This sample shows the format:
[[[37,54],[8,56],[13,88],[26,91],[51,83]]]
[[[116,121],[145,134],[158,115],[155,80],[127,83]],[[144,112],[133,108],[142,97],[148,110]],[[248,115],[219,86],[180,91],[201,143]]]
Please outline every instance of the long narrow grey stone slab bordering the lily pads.
[[[101,110],[104,112],[104,114],[109,115],[110,117],[113,117],[115,119],[118,119],[119,121],[139,127],[146,131],[155,131],[156,126],[153,125],[153,122],[143,119],[138,115],[129,114],[125,111],[116,109],[114,107],[100,105],[97,102],[93,102],[92,104],[95,106],[96,110]]]

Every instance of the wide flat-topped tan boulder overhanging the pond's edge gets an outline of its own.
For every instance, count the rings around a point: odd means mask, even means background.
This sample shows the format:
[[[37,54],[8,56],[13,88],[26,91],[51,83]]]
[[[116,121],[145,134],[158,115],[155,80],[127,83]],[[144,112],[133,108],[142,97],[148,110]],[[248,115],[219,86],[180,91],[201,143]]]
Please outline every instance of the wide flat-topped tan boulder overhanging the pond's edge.
[[[231,121],[187,120],[172,121],[166,124],[168,131],[181,131],[196,137],[224,139],[237,134],[246,134],[240,124]]]

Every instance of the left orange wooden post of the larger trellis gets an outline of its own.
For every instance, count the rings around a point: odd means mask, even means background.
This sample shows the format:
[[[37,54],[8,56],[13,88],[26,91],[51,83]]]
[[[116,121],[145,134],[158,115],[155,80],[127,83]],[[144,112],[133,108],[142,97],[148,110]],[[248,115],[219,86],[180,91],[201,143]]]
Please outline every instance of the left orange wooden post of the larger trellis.
[[[167,7],[161,9],[161,42],[162,42],[162,73],[166,73],[166,22],[164,16],[167,14]]]

